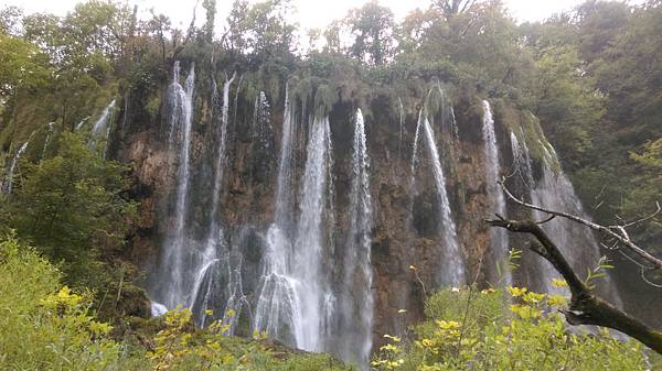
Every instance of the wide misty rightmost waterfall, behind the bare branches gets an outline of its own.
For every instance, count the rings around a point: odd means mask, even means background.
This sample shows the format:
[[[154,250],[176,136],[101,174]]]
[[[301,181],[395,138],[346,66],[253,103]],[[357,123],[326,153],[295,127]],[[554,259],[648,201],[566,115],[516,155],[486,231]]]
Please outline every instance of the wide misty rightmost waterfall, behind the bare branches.
[[[523,183],[528,189],[531,203],[543,208],[591,220],[575,194],[573,184],[563,172],[556,151],[546,141],[534,143],[541,146],[543,153],[541,161],[542,174],[537,181],[534,179],[533,161],[523,131],[521,133],[522,140],[520,141],[517,135],[511,132],[511,148],[515,166],[522,173]],[[533,217],[543,220],[548,215],[533,211]],[[555,218],[542,225],[542,228],[554,239],[556,245],[577,272],[584,272],[587,268],[592,269],[597,265],[601,252],[599,242],[592,231],[565,218]],[[567,294],[565,290],[552,285],[552,279],[559,276],[552,264],[540,257],[536,257],[535,261],[537,263],[537,275],[543,286],[541,288],[547,293]],[[605,277],[605,288],[613,287],[609,275]],[[605,294],[617,306],[620,305],[620,295],[616,291],[606,292]]]

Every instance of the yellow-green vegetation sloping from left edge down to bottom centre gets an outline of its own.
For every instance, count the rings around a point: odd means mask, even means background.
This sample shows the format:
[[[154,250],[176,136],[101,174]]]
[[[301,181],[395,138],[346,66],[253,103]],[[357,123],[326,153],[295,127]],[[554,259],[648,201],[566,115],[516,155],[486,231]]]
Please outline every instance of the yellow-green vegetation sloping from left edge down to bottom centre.
[[[224,336],[222,323],[196,330],[186,309],[111,326],[97,318],[89,292],[74,292],[61,279],[15,237],[0,242],[1,370],[350,370],[263,336]]]

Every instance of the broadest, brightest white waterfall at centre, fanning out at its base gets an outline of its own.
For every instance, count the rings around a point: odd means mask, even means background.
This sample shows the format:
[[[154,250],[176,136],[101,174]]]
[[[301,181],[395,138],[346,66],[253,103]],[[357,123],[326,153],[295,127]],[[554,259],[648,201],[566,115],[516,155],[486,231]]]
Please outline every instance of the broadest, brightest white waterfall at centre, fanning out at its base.
[[[254,328],[309,351],[321,351],[324,334],[331,328],[324,313],[333,313],[334,297],[325,280],[322,259],[327,254],[324,225],[331,210],[331,131],[329,118],[314,118],[308,140],[301,182],[299,219],[293,238],[288,237],[287,209],[290,197],[293,108],[286,100],[284,140],[280,153],[276,221],[267,233],[267,252],[256,306]],[[324,293],[324,294],[323,294]]]

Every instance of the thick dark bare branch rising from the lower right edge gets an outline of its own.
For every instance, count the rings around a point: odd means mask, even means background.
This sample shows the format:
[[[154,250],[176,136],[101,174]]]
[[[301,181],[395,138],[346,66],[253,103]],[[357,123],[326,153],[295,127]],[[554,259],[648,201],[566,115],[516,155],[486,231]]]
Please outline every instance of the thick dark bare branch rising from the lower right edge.
[[[531,220],[485,220],[490,226],[504,228],[511,232],[528,233],[536,238],[532,250],[546,259],[565,279],[572,298],[568,310],[563,310],[570,325],[591,325],[621,331],[641,341],[652,350],[662,354],[662,332],[652,330],[637,318],[621,312],[610,303],[596,296],[587,284],[577,276],[570,264],[549,239],[545,231]],[[542,253],[544,251],[544,253]]]

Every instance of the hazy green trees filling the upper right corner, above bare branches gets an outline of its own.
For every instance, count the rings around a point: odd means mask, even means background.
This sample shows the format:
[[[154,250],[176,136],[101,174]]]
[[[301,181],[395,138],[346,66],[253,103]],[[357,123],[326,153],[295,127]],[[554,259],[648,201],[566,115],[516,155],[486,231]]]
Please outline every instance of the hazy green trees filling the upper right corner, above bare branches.
[[[587,1],[573,15],[522,29],[536,56],[530,98],[597,221],[634,220],[662,193],[660,170],[637,155],[662,137],[662,4]],[[659,252],[659,230],[631,237]]]

